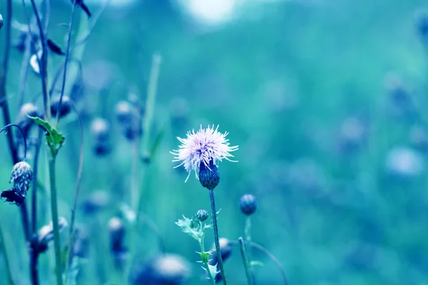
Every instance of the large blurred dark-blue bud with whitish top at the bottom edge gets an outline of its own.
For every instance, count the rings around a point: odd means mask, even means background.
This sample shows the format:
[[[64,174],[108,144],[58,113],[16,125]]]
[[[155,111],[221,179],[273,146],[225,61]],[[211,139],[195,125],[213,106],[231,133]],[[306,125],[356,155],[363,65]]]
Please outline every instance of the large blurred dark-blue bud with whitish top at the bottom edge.
[[[156,257],[131,272],[131,284],[181,285],[190,276],[190,264],[176,254]]]

